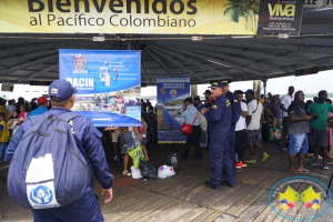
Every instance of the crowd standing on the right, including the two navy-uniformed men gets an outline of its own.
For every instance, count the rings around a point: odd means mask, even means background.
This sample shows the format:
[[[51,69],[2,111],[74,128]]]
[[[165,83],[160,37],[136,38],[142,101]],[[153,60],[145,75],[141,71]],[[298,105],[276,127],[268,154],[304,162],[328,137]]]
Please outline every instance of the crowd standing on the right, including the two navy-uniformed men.
[[[282,131],[280,144],[281,150],[289,153],[289,172],[309,173],[304,167],[305,157],[313,158],[311,165],[320,165],[322,159],[322,169],[327,170],[333,164],[333,129],[326,122],[333,123],[332,101],[326,91],[320,91],[313,101],[304,101],[303,91],[294,91],[294,87],[290,87],[281,99],[272,93],[258,99],[251,89],[232,93],[228,80],[212,81],[211,91],[203,93],[203,102],[200,97],[194,101],[191,98],[183,101],[182,117],[185,124],[192,124],[192,134],[180,157],[188,159],[191,147],[194,147],[194,159],[202,158],[198,139],[201,130],[196,113],[200,112],[209,125],[206,149],[210,149],[212,179],[205,182],[208,188],[220,190],[222,176],[226,179],[225,185],[235,186],[234,169],[258,162],[254,148],[261,154],[260,162],[268,161],[262,140],[263,135],[268,138],[270,128]],[[244,158],[246,148],[249,158]],[[294,167],[296,155],[297,168]]]

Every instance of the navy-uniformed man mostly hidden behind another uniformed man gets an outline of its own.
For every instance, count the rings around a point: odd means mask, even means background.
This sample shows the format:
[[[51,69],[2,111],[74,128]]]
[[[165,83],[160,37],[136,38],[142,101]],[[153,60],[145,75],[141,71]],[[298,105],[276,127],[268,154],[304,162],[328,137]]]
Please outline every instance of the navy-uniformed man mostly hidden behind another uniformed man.
[[[241,112],[242,112],[242,108],[241,108],[241,102],[239,100],[239,97],[235,95],[234,93],[232,93],[231,91],[229,91],[229,81],[228,80],[222,80],[221,83],[223,84],[223,94],[229,99],[230,103],[231,103],[231,127],[230,127],[230,147],[232,148],[233,152],[234,152],[234,138],[235,138],[235,125],[240,119]],[[235,157],[235,154],[233,154],[233,157]],[[238,157],[235,157],[238,158]],[[236,160],[234,159],[234,163],[233,167],[235,165]],[[225,170],[225,168],[223,169]],[[228,184],[230,185],[230,184]]]

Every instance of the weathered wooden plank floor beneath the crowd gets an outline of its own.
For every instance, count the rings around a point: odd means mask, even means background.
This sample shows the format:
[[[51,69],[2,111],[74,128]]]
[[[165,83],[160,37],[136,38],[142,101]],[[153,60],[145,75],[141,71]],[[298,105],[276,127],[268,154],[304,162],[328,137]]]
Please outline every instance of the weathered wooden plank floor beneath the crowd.
[[[112,161],[112,149],[108,141],[104,141],[104,149],[110,171],[114,175],[114,198],[104,204],[98,182],[94,184],[94,192],[99,195],[105,221],[287,221],[272,211],[268,200],[276,182],[296,175],[287,172],[287,153],[280,150],[276,143],[264,143],[264,149],[270,154],[268,162],[258,161],[238,170],[236,188],[223,186],[222,191],[204,186],[204,181],[211,176],[206,150],[203,150],[204,158],[201,160],[181,160],[180,173],[173,178],[143,181],[122,175],[122,162]],[[182,153],[182,145],[151,144],[148,151],[153,165],[158,168],[167,162],[169,154]],[[324,171],[309,165],[310,161],[305,161],[306,168],[311,170],[306,175],[322,181],[333,191],[333,167]],[[7,173],[8,165],[0,163],[0,221],[33,221],[29,210],[10,200],[6,184]],[[295,190],[303,186],[293,184]],[[272,202],[273,205],[279,204],[278,199]],[[320,214],[327,204],[329,200],[325,200],[316,213]],[[294,219],[306,210],[301,203],[295,204],[294,209],[289,214]],[[333,206],[314,221],[333,221]]]

